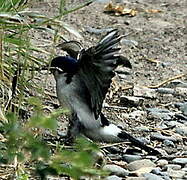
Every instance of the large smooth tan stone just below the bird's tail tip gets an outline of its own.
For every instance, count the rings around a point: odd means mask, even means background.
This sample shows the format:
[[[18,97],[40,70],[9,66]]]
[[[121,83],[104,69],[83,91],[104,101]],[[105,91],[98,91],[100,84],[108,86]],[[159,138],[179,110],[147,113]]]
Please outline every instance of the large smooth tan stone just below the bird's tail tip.
[[[136,160],[127,165],[130,171],[135,171],[143,167],[156,167],[156,165],[149,159]]]

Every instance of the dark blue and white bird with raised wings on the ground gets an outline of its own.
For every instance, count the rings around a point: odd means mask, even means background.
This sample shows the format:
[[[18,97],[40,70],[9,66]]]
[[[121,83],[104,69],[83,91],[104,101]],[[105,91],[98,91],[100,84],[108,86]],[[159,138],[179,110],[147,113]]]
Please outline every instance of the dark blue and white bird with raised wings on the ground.
[[[122,38],[119,31],[114,29],[87,49],[77,41],[59,45],[68,55],[52,59],[50,69],[56,80],[60,105],[71,114],[68,136],[83,134],[94,142],[105,143],[129,140],[132,145],[150,154],[158,154],[157,150],[110,122],[102,113],[115,68],[120,64],[132,68],[130,61],[119,54]]]

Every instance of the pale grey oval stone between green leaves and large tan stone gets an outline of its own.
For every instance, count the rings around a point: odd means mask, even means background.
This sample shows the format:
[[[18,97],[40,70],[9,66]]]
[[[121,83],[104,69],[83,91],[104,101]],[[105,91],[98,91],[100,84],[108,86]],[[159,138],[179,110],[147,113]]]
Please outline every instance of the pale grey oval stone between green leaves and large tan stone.
[[[103,170],[111,172],[111,174],[114,174],[116,176],[128,176],[129,171],[123,169],[120,166],[114,165],[114,164],[107,164],[103,167]]]

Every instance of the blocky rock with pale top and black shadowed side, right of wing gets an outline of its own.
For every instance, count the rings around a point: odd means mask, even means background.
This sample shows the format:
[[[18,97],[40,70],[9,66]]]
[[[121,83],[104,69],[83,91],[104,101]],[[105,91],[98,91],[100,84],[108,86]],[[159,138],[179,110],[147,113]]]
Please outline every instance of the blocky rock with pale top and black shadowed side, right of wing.
[[[134,96],[121,96],[120,97],[120,104],[123,106],[129,106],[129,107],[137,107],[141,106],[143,104],[144,99],[140,97],[134,97]]]

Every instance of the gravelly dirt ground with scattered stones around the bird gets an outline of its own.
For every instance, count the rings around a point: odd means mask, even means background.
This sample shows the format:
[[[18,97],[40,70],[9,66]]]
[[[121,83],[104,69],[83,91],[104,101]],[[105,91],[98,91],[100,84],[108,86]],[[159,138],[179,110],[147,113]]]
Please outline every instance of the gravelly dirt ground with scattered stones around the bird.
[[[79,2],[72,1],[69,6]],[[124,2],[126,7],[137,10],[135,16],[104,13],[107,3],[95,2],[64,17],[65,22],[79,30],[83,39],[71,34],[65,34],[66,37],[81,41],[85,48],[97,43],[111,28],[126,35],[121,41],[121,53],[129,58],[133,69],[119,67],[116,70],[103,112],[111,121],[162,153],[160,157],[149,156],[128,144],[103,148],[107,158],[103,168],[111,172],[106,179],[187,179],[186,1]],[[57,5],[56,1],[49,0],[36,3],[33,9],[52,16],[57,12]],[[33,36],[38,44],[51,38],[48,34],[34,33]],[[58,105],[52,76],[48,77],[46,90],[54,94],[53,98],[46,99],[46,104]],[[66,119],[59,119],[58,134],[62,134],[66,126]]]

